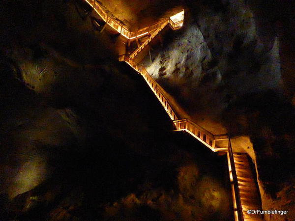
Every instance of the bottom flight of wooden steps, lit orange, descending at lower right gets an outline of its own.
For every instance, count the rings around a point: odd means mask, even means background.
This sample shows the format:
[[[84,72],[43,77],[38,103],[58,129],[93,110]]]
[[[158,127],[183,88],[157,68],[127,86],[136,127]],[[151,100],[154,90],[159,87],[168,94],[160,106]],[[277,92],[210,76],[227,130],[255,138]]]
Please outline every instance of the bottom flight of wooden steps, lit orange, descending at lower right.
[[[246,153],[233,153],[238,191],[244,221],[263,221],[261,214],[248,214],[247,210],[262,210],[259,192]]]

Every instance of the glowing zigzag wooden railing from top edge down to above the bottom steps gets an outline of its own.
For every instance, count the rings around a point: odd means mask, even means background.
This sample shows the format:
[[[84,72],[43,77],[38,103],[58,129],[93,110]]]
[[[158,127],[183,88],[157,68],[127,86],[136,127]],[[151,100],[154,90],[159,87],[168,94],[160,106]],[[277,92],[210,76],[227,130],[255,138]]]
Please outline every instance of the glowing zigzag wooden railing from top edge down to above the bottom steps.
[[[180,28],[183,24],[183,20],[178,22],[173,22],[170,18],[163,19],[151,26],[146,28],[142,28],[138,31],[130,32],[127,27],[119,24],[115,19],[109,17],[107,13],[102,9],[99,3],[96,0],[86,0],[91,7],[97,12],[97,14],[112,28],[117,30],[121,35],[126,37],[127,39],[138,38],[144,36],[153,31],[153,33],[148,37],[148,39],[141,44],[131,55],[121,55],[119,57],[120,61],[127,62],[132,68],[134,68],[137,72],[139,72],[148,83],[148,86],[156,95],[162,106],[164,107],[165,111],[168,113],[171,120],[176,127],[177,131],[186,131],[187,133],[191,134],[193,137],[197,138],[207,147],[209,147],[213,151],[226,151],[227,148],[219,148],[215,145],[215,137],[210,132],[206,131],[204,128],[198,126],[197,124],[193,123],[189,119],[181,119],[178,120],[176,112],[173,110],[172,106],[169,103],[169,100],[165,97],[164,93],[162,92],[161,87],[156,83],[156,81],[148,74],[145,67],[136,63],[133,59],[139,52],[141,52],[144,47],[148,45],[148,43],[167,25],[169,24],[173,29]],[[223,138],[223,139],[226,139]]]

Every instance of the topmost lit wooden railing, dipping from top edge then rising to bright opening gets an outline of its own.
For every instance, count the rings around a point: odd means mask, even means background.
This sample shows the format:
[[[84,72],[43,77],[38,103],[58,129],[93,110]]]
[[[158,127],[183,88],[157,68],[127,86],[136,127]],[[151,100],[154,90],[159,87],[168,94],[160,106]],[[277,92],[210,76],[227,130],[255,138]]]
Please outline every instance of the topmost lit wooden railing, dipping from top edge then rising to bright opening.
[[[163,25],[163,23],[166,23],[166,24],[169,23],[173,29],[180,28],[181,26],[179,26],[179,24],[181,24],[181,23],[183,24],[183,20],[179,21],[177,23],[174,23],[171,19],[168,18],[168,19],[161,20],[161,21],[159,21],[151,26],[148,26],[146,28],[139,29],[138,31],[129,31],[129,28],[127,28],[126,26],[124,26],[122,24],[119,24],[116,21],[116,19],[108,16],[108,14],[102,9],[100,4],[96,0],[85,0],[85,1],[91,7],[93,7],[95,12],[103,19],[103,21],[105,21],[110,27],[117,30],[118,33],[120,33],[122,36],[126,37],[129,40],[148,34],[151,31],[161,27]]]

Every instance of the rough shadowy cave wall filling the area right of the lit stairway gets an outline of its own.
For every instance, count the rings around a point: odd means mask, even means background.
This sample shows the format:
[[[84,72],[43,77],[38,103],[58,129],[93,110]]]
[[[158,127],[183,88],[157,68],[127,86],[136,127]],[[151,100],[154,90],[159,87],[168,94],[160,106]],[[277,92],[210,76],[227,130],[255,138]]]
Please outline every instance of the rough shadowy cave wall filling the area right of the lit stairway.
[[[196,112],[204,111],[222,122],[236,151],[251,156],[263,208],[289,210],[287,217],[266,219],[292,220],[294,7],[277,1],[186,3],[184,29],[166,36],[168,43],[146,62],[148,70],[191,118],[198,122],[203,116]]]

